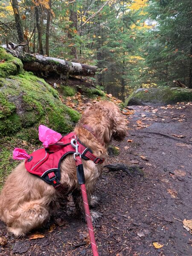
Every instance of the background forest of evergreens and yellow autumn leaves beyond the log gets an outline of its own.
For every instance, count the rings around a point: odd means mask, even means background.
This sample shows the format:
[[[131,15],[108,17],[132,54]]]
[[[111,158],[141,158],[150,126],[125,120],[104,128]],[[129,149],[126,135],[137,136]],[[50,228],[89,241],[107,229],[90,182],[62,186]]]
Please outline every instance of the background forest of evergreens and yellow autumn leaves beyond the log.
[[[0,1],[0,44],[96,65],[122,100],[173,80],[192,88],[191,24],[191,0]]]

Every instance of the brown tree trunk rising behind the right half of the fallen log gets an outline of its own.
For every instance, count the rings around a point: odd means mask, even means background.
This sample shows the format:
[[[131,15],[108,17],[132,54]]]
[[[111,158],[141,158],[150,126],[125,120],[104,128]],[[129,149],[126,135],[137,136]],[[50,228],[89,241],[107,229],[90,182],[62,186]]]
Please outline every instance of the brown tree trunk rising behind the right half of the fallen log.
[[[77,11],[76,11],[76,3],[73,0],[70,0],[69,3],[70,3],[70,27],[69,27],[67,36],[69,39],[73,39],[74,33],[77,33]],[[71,44],[73,44],[73,40],[70,40],[70,41],[71,41]],[[77,49],[75,46],[70,47],[70,54],[75,59],[78,59]]]

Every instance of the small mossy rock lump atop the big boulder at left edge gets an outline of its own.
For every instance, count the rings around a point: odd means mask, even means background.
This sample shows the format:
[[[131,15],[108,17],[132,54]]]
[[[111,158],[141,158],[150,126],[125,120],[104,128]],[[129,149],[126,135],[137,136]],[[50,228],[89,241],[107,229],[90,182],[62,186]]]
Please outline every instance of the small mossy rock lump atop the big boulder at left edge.
[[[16,75],[22,70],[22,62],[18,58],[8,54],[3,47],[0,47],[0,77],[6,78]]]

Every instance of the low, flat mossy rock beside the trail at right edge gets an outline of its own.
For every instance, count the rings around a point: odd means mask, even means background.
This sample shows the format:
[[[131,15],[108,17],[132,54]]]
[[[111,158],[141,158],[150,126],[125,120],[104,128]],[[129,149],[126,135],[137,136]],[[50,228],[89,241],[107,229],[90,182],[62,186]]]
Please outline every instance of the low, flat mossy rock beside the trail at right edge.
[[[137,89],[125,100],[127,105],[171,104],[175,102],[192,101],[192,89],[180,87],[159,87]]]

